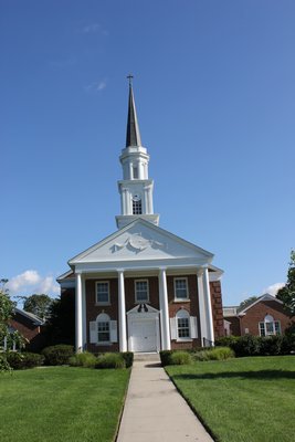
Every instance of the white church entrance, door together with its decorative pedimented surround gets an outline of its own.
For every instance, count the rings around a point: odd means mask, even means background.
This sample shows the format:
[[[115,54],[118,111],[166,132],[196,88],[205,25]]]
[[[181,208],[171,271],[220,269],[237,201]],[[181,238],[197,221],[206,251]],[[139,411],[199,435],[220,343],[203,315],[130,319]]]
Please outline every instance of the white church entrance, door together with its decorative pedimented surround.
[[[128,349],[134,352],[159,351],[159,312],[148,306],[148,312],[130,311],[128,316]]]

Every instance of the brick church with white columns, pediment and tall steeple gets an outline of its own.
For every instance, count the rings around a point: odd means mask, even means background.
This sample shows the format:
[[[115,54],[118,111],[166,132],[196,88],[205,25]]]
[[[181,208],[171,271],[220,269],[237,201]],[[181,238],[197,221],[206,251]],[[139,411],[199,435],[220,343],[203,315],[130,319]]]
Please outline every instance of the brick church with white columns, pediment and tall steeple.
[[[131,82],[119,160],[117,230],[72,257],[57,278],[62,296],[75,296],[76,351],[211,345],[223,335],[223,272],[212,265],[212,253],[159,227]]]

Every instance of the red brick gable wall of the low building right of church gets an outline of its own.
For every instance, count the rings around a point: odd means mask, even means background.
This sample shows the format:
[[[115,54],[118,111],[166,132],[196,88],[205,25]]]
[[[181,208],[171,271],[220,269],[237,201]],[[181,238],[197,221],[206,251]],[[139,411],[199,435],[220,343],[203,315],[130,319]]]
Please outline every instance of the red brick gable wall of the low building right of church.
[[[281,332],[291,324],[291,318],[284,312],[283,305],[276,301],[261,301],[245,312],[245,316],[241,317],[241,335],[245,335],[245,329],[249,329],[250,335],[260,336],[259,323],[262,323],[266,315],[273,316],[274,320],[281,322]]]

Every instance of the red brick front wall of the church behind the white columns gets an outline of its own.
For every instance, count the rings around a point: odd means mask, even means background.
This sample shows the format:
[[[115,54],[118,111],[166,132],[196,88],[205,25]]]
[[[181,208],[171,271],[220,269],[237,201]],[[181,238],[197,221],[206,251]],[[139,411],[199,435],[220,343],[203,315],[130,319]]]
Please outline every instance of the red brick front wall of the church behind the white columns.
[[[169,316],[176,316],[177,312],[185,308],[190,316],[197,317],[198,323],[198,339],[192,339],[187,343],[177,343],[172,340],[172,349],[187,349],[196,348],[201,346],[201,333],[200,333],[200,313],[199,313],[199,294],[197,275],[187,275],[189,299],[188,301],[175,301],[175,283],[173,280],[181,276],[167,276],[167,291],[168,291],[168,304],[169,304]],[[159,309],[159,281],[157,276],[148,277],[125,277],[125,299],[126,299],[126,312],[133,309],[138,303],[135,299],[135,281],[147,280],[149,286],[149,302],[148,304]],[[109,283],[109,305],[97,305],[96,303],[96,282],[108,281]],[[86,324],[87,324],[87,349],[93,352],[97,351],[118,351],[118,343],[110,344],[108,346],[97,346],[89,344],[89,322],[96,319],[101,313],[107,314],[112,320],[118,320],[118,280],[117,278],[92,278],[85,281],[86,288]],[[221,285],[220,282],[210,283],[212,311],[213,311],[213,323],[215,337],[223,336],[223,316],[222,316],[222,297],[221,297]]]

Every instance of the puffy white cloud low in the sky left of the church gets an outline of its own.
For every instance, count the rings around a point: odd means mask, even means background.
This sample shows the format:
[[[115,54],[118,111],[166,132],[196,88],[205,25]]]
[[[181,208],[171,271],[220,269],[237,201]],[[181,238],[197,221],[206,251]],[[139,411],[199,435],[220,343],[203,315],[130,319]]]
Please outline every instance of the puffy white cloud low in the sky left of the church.
[[[32,295],[33,293],[55,295],[60,293],[60,287],[53,276],[41,276],[36,270],[27,270],[20,275],[11,277],[7,283],[7,288],[12,296]]]

